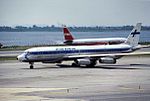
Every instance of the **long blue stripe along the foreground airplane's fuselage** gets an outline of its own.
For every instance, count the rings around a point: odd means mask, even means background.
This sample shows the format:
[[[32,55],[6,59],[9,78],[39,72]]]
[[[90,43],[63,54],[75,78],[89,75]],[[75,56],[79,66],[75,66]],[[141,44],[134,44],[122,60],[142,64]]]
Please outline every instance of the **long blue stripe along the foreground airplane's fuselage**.
[[[31,55],[46,55],[46,54],[72,54],[72,53],[98,53],[98,52],[123,52],[128,51],[130,48],[118,49],[88,49],[88,50],[58,50],[58,51],[38,51],[30,52]]]

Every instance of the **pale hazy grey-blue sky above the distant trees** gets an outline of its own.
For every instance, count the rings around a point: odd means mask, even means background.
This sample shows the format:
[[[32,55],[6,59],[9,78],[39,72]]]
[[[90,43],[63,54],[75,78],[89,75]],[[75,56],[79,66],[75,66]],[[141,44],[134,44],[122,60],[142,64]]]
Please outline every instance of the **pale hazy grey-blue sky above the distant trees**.
[[[150,0],[0,0],[0,25],[150,25]]]

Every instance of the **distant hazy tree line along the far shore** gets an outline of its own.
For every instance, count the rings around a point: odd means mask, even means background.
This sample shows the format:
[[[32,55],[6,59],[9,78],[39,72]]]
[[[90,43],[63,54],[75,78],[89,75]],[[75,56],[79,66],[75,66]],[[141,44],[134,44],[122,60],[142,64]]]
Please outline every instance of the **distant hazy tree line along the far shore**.
[[[94,26],[94,27],[68,27],[71,31],[76,32],[100,32],[100,31],[122,31],[122,30],[132,30],[133,26],[126,25],[126,26]],[[150,30],[150,26],[142,26],[142,30]],[[0,26],[0,32],[32,32],[32,31],[41,31],[41,32],[61,32],[62,27],[57,27],[54,25],[51,26],[37,26],[33,25],[32,27],[25,27],[25,26]]]

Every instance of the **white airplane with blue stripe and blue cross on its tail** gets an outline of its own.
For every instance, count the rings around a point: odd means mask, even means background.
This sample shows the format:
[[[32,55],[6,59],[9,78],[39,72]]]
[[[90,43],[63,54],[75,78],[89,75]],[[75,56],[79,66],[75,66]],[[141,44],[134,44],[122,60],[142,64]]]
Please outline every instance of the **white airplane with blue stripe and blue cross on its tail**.
[[[61,63],[73,60],[72,66],[95,66],[99,63],[115,64],[117,59],[125,55],[150,54],[150,52],[132,53],[139,49],[141,23],[137,23],[127,40],[115,45],[85,45],[85,46],[50,46],[35,47],[25,50],[17,59],[28,62],[33,69],[34,62]]]

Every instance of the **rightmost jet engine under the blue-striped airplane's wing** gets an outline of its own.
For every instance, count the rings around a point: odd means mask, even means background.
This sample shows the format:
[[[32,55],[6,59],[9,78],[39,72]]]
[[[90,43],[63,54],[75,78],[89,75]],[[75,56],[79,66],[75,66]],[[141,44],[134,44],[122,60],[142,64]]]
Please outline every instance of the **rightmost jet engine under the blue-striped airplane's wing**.
[[[99,63],[105,63],[105,64],[115,64],[116,59],[112,57],[103,57],[99,59]]]

